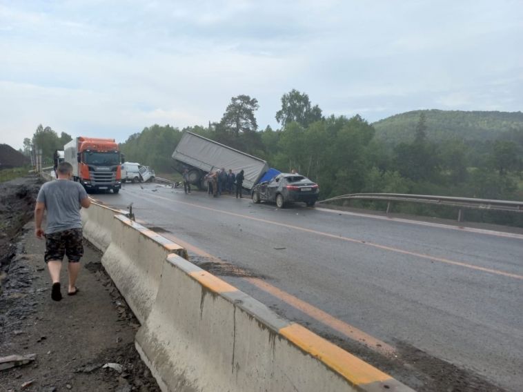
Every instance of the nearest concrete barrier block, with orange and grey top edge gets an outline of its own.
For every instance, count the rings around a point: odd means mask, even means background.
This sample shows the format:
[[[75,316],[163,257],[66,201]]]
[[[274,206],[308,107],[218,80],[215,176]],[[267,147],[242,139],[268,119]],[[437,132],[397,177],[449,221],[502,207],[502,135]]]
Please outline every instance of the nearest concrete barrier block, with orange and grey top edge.
[[[136,346],[163,391],[411,391],[176,255]]]

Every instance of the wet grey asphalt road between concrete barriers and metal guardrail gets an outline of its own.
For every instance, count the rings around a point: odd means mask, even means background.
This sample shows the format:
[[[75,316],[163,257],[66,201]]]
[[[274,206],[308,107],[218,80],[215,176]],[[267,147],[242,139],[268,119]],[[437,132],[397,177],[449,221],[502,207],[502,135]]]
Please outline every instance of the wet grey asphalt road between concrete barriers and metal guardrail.
[[[523,383],[523,235],[272,204],[157,184],[92,195],[221,262],[395,347],[408,344],[511,391]],[[162,231],[166,231],[162,233]],[[182,244],[183,245],[183,244]],[[202,251],[202,252],[199,252]],[[346,339],[235,273],[222,276],[277,313]],[[241,273],[239,274],[241,275]]]

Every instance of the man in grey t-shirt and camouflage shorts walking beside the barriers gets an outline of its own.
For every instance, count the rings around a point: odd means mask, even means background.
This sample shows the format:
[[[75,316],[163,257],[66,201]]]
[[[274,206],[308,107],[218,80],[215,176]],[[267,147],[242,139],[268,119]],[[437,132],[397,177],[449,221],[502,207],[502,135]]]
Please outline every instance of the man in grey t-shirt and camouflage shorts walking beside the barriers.
[[[34,208],[34,235],[46,237],[44,260],[52,280],[52,300],[61,300],[60,271],[63,255],[68,257],[68,295],[78,293],[75,286],[83,256],[80,208],[88,208],[90,200],[86,190],[72,179],[72,166],[61,162],[57,168],[57,180],[46,182],[40,188]],[[41,228],[43,211],[47,210],[47,227]]]

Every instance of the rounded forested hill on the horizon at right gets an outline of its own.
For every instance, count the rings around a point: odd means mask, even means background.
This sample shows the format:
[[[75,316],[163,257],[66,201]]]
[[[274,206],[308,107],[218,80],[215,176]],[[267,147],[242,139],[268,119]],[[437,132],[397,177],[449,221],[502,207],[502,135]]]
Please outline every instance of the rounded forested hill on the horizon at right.
[[[376,139],[390,144],[410,143],[420,115],[426,117],[428,140],[509,139],[523,143],[522,112],[464,112],[460,110],[414,110],[387,117],[373,124]]]

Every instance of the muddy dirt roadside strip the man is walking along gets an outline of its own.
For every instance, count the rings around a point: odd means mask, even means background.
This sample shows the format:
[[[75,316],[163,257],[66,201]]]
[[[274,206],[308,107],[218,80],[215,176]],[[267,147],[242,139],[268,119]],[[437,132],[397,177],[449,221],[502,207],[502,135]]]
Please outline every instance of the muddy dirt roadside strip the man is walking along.
[[[65,262],[64,298],[51,300],[45,244],[32,222],[40,186],[37,177],[0,184],[0,357],[35,354],[28,364],[0,370],[0,392],[159,391],[135,350],[139,323],[90,244],[79,293],[65,295]]]

